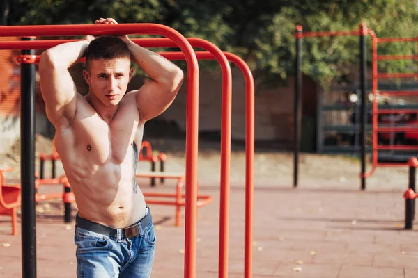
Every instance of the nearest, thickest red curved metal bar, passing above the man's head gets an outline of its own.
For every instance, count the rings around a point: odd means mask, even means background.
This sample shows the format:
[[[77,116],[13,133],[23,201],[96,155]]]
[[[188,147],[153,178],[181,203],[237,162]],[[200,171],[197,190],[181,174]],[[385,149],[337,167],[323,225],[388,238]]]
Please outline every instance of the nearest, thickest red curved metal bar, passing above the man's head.
[[[162,35],[180,47],[187,61],[186,108],[186,224],[185,224],[185,277],[196,277],[196,217],[197,217],[197,154],[199,111],[199,67],[194,49],[178,31],[160,24],[68,24],[0,26],[3,37],[65,36],[65,35]],[[10,49],[8,43],[0,49]],[[27,48],[26,48],[27,49]]]

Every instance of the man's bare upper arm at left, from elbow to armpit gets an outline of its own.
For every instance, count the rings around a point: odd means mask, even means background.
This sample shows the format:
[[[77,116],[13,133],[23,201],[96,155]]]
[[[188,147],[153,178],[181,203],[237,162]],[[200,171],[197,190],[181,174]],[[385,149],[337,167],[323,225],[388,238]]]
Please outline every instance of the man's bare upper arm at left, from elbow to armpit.
[[[49,63],[47,59],[41,60],[39,72],[40,90],[49,120],[53,124],[71,120],[75,115],[77,89],[70,72],[65,67]]]

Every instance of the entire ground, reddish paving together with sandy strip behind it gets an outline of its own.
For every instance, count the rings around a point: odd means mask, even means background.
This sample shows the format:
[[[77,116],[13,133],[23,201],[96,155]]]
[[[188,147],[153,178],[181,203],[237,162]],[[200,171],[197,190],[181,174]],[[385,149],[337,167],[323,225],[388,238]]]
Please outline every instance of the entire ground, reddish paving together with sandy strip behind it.
[[[37,149],[49,153],[50,140],[38,138]],[[0,157],[0,167],[13,166],[15,174],[20,165],[16,150]],[[167,156],[168,171],[184,171],[184,152],[168,152]],[[413,231],[403,229],[402,195],[408,184],[407,167],[378,169],[362,192],[358,160],[302,154],[300,186],[294,189],[292,158],[286,152],[256,154],[253,277],[418,277],[418,223]],[[140,169],[148,167],[149,164],[139,163]],[[244,271],[243,169],[244,153],[233,152],[231,278],[243,277]],[[60,167],[58,174],[62,174]],[[13,173],[9,175],[14,177]],[[174,191],[172,181],[157,188],[150,188],[148,180],[139,183],[144,191]],[[217,277],[219,152],[216,150],[200,150],[199,183],[200,193],[212,195],[215,202],[199,210],[196,277]],[[150,207],[157,234],[152,277],[183,277],[184,217],[182,227],[176,228],[173,207]],[[74,223],[63,223],[63,206],[59,202],[40,203],[37,214],[38,277],[75,277]],[[22,277],[21,236],[10,233],[10,218],[0,215],[0,277]]]

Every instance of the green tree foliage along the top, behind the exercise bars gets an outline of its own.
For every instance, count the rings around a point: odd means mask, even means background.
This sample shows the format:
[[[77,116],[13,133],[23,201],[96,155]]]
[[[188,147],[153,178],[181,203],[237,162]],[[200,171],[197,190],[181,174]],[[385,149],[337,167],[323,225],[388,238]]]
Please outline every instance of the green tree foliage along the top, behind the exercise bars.
[[[410,0],[9,0],[8,10],[9,25],[84,24],[114,17],[118,22],[171,26],[238,54],[263,84],[286,81],[293,74],[297,24],[304,31],[353,31],[364,22],[379,38],[418,33],[417,3]],[[416,53],[415,43],[379,46],[379,54]],[[359,63],[359,38],[305,38],[303,61],[304,73],[326,86],[344,74],[346,65]],[[385,72],[417,71],[410,60],[379,67]]]

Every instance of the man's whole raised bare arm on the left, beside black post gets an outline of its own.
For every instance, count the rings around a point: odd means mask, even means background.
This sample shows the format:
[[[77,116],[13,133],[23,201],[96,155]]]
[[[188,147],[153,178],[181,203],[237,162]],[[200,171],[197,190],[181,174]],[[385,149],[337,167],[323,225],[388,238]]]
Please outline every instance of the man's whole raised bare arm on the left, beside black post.
[[[47,116],[54,126],[68,124],[75,115],[77,90],[68,68],[82,58],[93,36],[59,44],[40,56],[40,90]]]

